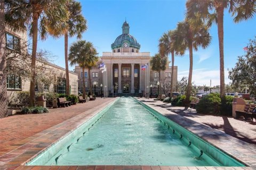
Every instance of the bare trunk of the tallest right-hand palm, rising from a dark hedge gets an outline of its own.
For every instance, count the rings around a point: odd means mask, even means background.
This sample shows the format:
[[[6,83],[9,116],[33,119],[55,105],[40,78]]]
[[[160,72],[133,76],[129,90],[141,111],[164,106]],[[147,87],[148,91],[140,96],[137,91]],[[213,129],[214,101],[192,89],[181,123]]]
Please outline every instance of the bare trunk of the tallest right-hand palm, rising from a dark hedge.
[[[220,97],[221,101],[225,100],[225,70],[224,70],[224,46],[223,46],[223,6],[217,8],[218,20],[218,38],[219,38],[219,51],[220,51]]]

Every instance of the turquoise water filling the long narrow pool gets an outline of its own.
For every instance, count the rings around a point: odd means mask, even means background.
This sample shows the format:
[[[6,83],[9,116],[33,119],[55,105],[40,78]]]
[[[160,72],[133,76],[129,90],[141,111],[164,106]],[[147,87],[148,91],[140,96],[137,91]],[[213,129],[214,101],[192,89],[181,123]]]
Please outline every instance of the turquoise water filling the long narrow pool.
[[[223,166],[180,138],[137,100],[120,98],[44,165]]]

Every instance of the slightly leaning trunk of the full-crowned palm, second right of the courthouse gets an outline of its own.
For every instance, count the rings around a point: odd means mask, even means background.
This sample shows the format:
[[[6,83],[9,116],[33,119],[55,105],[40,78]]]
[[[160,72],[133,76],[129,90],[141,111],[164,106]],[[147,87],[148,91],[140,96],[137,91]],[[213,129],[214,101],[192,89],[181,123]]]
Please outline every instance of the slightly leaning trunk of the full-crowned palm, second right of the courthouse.
[[[188,86],[186,91],[186,100],[185,100],[185,106],[189,106],[189,98],[191,93],[191,82],[192,82],[192,73],[193,73],[193,44],[192,42],[189,44],[189,74],[188,74]]]

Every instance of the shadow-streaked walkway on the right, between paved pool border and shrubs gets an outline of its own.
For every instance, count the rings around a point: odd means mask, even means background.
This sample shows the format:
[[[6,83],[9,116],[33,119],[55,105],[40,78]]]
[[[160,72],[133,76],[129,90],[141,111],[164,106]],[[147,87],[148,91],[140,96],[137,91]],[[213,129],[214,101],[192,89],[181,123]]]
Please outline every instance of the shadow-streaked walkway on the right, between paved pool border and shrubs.
[[[170,103],[163,103],[163,101],[154,99],[140,98],[140,101],[147,103],[150,106],[158,106],[166,109],[171,113],[179,114],[190,120],[202,123],[213,129],[220,130],[229,134],[237,139],[243,140],[247,143],[256,146],[256,123],[252,121],[236,120],[234,117],[215,116],[215,115],[202,115],[197,114],[195,109],[187,107],[171,106]]]

